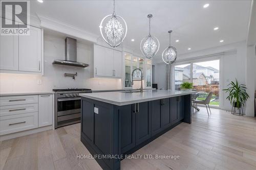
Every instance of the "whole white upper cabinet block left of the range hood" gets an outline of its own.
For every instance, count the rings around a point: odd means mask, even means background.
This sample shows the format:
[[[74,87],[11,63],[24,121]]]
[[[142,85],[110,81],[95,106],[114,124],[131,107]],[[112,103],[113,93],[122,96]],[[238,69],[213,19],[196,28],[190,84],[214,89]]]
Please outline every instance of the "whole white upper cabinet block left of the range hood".
[[[30,26],[30,35],[1,35],[1,72],[42,72],[42,30]]]

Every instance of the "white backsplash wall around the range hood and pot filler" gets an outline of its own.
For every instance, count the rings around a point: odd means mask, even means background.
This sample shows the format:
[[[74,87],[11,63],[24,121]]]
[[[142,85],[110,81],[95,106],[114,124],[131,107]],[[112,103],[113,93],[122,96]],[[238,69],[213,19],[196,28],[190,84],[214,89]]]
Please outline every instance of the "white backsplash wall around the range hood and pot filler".
[[[37,92],[52,91],[54,88],[91,88],[120,89],[121,79],[90,78],[90,66],[76,68],[71,66],[53,65],[55,59],[65,59],[65,37],[46,35],[44,36],[44,76],[25,74],[0,74],[0,93],[9,92]],[[90,44],[77,43],[77,60],[91,63],[92,46]],[[64,77],[64,73],[75,73],[76,80]],[[38,85],[37,80],[42,80]]]

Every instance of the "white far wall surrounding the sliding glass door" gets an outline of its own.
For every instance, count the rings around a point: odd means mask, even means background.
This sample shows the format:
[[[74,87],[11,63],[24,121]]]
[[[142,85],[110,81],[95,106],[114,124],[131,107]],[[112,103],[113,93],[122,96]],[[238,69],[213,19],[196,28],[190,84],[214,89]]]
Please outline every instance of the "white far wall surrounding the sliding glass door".
[[[246,42],[238,42],[228,45],[222,45],[214,48],[208,48],[202,51],[187,53],[177,56],[176,63],[179,63],[179,60],[189,60],[192,58],[226,52],[226,55],[222,57],[223,72],[220,74],[223,75],[222,89],[227,87],[227,84],[230,81],[234,81],[235,78],[239,83],[246,83]],[[210,59],[210,58],[209,58]],[[165,88],[165,64],[161,61],[160,57],[157,57],[153,60],[153,65],[156,69],[156,83],[158,83],[159,88]],[[231,110],[229,101],[226,100],[226,94],[224,91],[220,92],[222,95],[222,109]]]

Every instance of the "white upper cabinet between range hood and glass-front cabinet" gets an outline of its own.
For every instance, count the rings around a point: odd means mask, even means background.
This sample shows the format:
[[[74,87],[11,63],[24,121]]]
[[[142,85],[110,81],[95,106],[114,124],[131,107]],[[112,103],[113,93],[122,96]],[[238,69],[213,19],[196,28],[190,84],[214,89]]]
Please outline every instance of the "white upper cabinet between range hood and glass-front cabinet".
[[[94,45],[93,77],[122,77],[122,53],[111,48]]]

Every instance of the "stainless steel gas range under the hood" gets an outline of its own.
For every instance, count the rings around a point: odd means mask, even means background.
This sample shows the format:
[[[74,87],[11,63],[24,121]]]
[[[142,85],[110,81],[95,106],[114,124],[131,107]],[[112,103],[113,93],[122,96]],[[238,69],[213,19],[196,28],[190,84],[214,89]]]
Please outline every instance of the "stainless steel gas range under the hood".
[[[91,89],[53,89],[55,92],[55,129],[80,122],[81,97],[79,93],[91,93]]]

